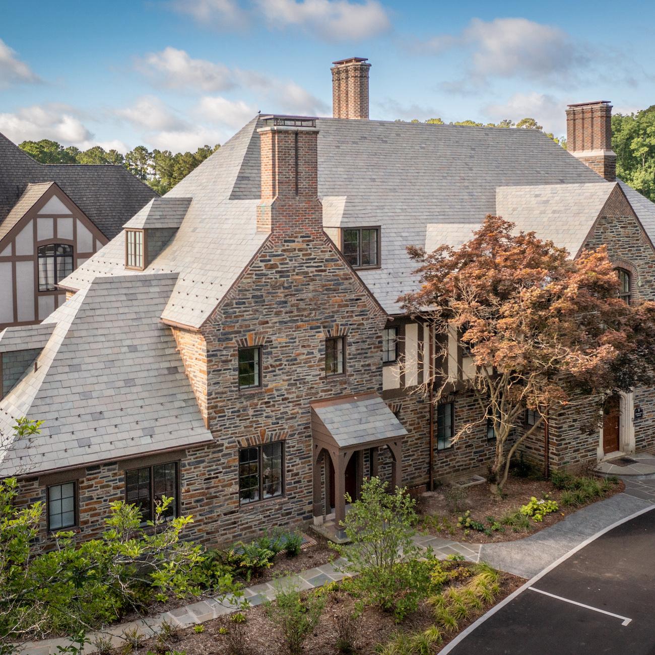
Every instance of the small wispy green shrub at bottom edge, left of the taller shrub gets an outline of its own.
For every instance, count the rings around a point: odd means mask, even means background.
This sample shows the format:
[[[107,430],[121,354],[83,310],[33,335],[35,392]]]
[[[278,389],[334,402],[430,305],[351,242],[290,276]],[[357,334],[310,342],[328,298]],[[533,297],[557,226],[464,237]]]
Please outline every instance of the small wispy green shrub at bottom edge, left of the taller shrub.
[[[303,650],[303,643],[318,624],[325,607],[322,594],[308,593],[303,599],[299,589],[288,582],[276,584],[274,603],[266,604],[271,621],[282,631],[284,641],[291,655]]]

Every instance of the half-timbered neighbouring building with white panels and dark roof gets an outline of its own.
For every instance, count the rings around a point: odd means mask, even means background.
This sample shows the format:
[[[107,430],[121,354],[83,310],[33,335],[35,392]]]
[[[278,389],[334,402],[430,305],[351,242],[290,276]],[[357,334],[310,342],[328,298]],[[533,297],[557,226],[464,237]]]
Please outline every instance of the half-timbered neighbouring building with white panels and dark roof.
[[[0,134],[0,329],[62,305],[58,282],[155,195],[122,166],[40,164]]]

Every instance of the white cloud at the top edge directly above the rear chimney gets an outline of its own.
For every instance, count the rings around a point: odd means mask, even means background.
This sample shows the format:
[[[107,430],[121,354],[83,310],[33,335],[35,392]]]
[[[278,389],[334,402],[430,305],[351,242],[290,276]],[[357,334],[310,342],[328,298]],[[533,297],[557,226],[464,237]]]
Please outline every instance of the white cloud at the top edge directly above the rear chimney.
[[[274,27],[297,26],[326,41],[368,39],[390,29],[384,7],[377,0],[255,0]]]

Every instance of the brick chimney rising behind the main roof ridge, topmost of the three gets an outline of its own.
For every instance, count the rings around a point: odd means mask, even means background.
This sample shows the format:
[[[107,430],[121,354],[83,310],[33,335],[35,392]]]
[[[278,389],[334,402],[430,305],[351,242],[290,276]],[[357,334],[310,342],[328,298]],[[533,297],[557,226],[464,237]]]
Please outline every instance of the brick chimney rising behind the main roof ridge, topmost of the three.
[[[332,62],[332,115],[335,119],[368,118],[368,73],[365,57]]]

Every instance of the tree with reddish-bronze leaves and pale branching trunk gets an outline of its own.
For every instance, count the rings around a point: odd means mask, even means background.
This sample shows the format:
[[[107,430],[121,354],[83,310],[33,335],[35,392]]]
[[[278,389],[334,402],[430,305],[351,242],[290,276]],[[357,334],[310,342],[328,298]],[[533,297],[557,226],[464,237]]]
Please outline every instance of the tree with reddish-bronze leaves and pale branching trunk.
[[[409,254],[420,263],[422,288],[403,296],[403,307],[434,326],[441,361],[453,338],[472,358],[455,380],[447,365],[434,367],[422,392],[431,386],[436,403],[454,388],[472,392],[479,415],[464,417],[454,440],[493,424],[494,491],[549,413],[595,403],[600,422],[608,396],[655,383],[655,303],[618,297],[605,246],[572,259],[552,241],[487,216],[460,248]],[[526,409],[536,420],[522,430]]]

